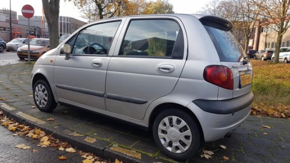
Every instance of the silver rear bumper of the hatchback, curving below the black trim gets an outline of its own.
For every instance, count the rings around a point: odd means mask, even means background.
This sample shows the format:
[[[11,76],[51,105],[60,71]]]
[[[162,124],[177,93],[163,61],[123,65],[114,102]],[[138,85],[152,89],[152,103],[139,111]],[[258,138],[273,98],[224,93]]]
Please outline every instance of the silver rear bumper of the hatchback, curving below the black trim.
[[[252,99],[252,93],[246,96],[249,96],[248,98]],[[241,102],[236,101],[237,99],[241,100]],[[198,119],[205,142],[214,141],[222,138],[228,132],[231,132],[239,127],[243,123],[243,121],[249,116],[252,108],[252,100],[250,100],[250,103],[248,102],[247,105],[243,105],[242,109],[233,109],[232,111],[230,111],[230,113],[226,114],[224,108],[229,108],[228,104],[233,106],[232,103],[235,104],[236,102],[246,103],[245,101],[242,101],[244,99],[242,97],[237,99],[233,99],[233,102],[232,100],[227,100],[227,103],[216,103],[214,108],[223,111],[223,114],[216,114],[204,111],[193,102],[186,106],[194,112],[196,118]],[[222,106],[222,104],[225,106]],[[233,112],[234,110],[236,111]]]

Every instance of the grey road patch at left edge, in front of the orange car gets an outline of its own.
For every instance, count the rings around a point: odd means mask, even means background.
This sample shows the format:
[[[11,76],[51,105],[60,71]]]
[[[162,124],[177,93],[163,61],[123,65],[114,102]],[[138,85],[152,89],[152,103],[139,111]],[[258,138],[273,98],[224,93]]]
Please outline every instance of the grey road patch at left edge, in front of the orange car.
[[[0,53],[0,66],[1,65],[8,65],[8,64],[15,64],[20,62],[25,62],[27,60],[20,60],[16,54],[16,51],[14,52],[3,52]]]

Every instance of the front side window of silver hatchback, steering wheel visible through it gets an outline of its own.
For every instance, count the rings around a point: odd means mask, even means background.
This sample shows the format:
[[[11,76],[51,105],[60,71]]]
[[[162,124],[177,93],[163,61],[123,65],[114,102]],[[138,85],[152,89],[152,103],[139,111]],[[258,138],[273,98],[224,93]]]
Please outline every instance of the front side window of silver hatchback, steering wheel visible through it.
[[[73,47],[71,54],[108,54],[119,25],[120,21],[117,21],[96,24],[83,29],[77,38],[73,37],[67,42]]]

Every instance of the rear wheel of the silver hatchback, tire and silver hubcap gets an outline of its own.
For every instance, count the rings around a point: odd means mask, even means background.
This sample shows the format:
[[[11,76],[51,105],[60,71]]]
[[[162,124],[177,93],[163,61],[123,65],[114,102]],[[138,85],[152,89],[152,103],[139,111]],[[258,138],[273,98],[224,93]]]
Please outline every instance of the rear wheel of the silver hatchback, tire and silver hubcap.
[[[179,126],[181,123],[184,125]],[[193,157],[200,148],[201,134],[197,123],[180,109],[172,108],[159,113],[152,129],[157,146],[171,158],[186,160]]]

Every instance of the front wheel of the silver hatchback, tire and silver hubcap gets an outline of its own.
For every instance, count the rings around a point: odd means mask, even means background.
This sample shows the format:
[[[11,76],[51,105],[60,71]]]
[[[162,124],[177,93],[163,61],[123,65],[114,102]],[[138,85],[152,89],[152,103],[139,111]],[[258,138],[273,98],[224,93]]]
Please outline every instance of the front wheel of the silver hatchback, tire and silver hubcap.
[[[33,85],[33,100],[43,112],[51,112],[57,106],[49,85],[44,80],[37,80]]]

